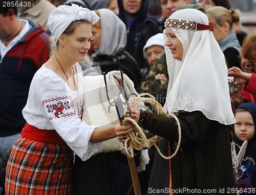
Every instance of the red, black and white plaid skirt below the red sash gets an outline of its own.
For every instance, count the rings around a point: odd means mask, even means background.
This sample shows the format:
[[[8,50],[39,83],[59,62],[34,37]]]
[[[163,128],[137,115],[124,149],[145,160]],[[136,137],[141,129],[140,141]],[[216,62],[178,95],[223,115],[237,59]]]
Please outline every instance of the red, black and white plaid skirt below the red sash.
[[[73,158],[68,145],[19,138],[6,168],[6,195],[70,195]]]

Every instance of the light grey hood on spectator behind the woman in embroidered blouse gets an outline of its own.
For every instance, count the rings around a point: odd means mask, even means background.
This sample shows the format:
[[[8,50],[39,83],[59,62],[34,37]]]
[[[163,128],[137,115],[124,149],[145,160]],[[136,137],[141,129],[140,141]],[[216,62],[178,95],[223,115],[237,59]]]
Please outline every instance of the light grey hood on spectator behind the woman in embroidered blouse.
[[[101,25],[101,40],[96,55],[115,55],[126,45],[126,27],[123,21],[109,9],[98,9]]]

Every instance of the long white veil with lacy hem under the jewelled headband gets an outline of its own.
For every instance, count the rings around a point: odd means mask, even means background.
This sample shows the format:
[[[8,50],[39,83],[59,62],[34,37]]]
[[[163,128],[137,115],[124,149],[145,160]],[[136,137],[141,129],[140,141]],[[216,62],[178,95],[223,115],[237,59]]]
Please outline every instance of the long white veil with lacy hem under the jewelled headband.
[[[170,28],[182,42],[183,58],[182,61],[174,59],[165,47],[169,74],[165,111],[201,111],[210,120],[222,124],[234,123],[227,66],[218,42],[209,30],[187,30],[191,26],[199,28],[198,24],[193,25],[190,21],[209,25],[207,16],[196,9],[183,9],[169,18],[169,22],[173,19]],[[177,22],[174,23],[174,20]],[[174,28],[174,24],[177,28]]]

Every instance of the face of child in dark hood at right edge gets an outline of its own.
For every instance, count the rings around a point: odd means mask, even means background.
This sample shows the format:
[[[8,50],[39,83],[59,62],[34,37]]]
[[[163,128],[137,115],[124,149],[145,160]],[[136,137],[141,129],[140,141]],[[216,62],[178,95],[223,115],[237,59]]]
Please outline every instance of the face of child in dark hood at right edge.
[[[254,122],[249,112],[237,112],[234,133],[242,140],[250,140],[254,136]]]

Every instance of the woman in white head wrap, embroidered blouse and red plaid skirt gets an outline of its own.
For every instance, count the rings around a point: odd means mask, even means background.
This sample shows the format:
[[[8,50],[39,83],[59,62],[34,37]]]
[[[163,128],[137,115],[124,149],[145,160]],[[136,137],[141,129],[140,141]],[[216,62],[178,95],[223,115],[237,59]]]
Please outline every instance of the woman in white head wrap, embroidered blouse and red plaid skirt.
[[[133,125],[81,122],[83,83],[77,62],[90,49],[92,25],[98,20],[95,12],[74,4],[51,12],[48,27],[57,46],[31,82],[23,110],[27,124],[7,165],[6,194],[70,195],[74,153],[87,160],[100,142],[116,137],[115,128],[126,129],[124,135],[132,131]]]

